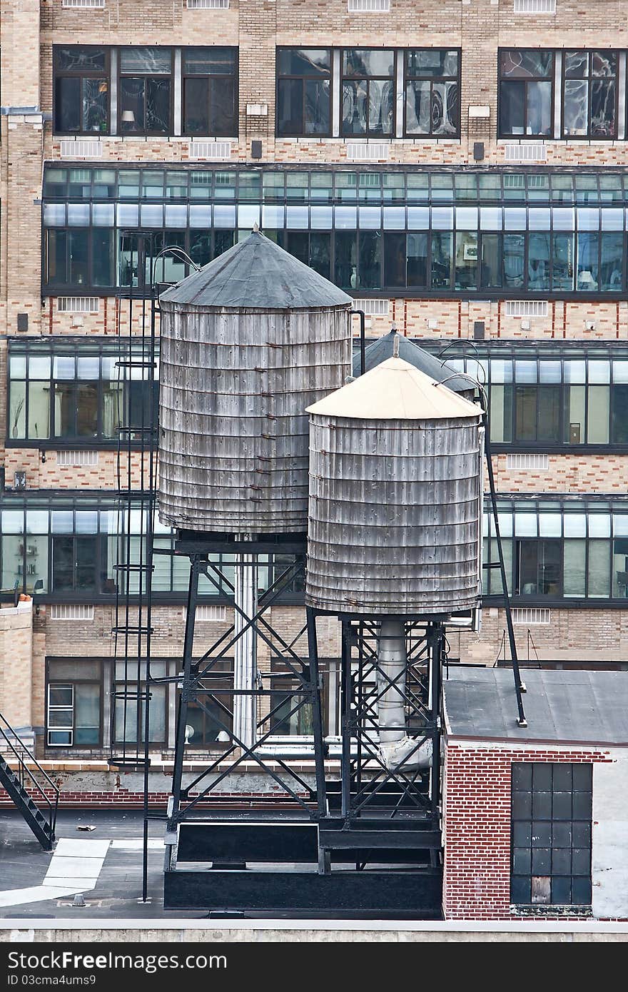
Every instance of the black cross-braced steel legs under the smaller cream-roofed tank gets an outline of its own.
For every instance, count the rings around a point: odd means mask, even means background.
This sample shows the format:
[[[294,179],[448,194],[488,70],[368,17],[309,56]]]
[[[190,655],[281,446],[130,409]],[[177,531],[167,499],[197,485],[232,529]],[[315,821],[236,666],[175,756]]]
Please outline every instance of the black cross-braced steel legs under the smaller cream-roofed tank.
[[[315,620],[335,615],[307,608],[312,631],[310,655],[316,657]],[[349,834],[371,825],[385,834],[401,827],[424,831],[415,841],[440,847],[440,727],[441,667],[446,657],[442,618],[406,617],[408,665],[402,679],[391,681],[378,664],[377,641],[381,617],[342,614],[341,624],[341,767],[339,793],[334,784],[317,777],[319,808],[332,806],[324,816],[323,846],[327,829]],[[380,684],[378,684],[378,678]],[[384,687],[381,687],[381,682]],[[378,703],[394,687],[403,699],[408,733],[416,746],[406,761],[426,741],[432,741],[430,769],[419,772],[388,767],[378,749]],[[314,725],[318,751],[324,750],[323,728]],[[324,791],[324,792],[323,792]],[[339,835],[338,835],[339,836]],[[354,835],[359,847],[360,835]],[[401,839],[401,838],[397,838]],[[345,842],[344,839],[342,841]],[[392,845],[394,846],[394,845]],[[415,842],[409,846],[417,846]],[[420,845],[419,845],[420,846]]]

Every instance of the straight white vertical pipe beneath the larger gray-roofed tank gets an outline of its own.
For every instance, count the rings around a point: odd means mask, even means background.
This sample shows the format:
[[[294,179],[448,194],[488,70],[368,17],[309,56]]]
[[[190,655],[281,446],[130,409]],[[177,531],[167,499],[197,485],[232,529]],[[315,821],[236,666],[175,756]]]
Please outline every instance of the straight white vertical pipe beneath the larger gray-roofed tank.
[[[244,540],[246,535],[239,537]],[[242,694],[238,696],[239,705],[233,707],[233,735],[246,747],[252,747],[257,736],[257,696],[251,692],[258,675],[257,638],[245,618],[252,619],[257,613],[256,555],[236,556],[233,586],[235,605],[242,611],[236,609],[234,617],[237,640],[233,649],[233,688]]]

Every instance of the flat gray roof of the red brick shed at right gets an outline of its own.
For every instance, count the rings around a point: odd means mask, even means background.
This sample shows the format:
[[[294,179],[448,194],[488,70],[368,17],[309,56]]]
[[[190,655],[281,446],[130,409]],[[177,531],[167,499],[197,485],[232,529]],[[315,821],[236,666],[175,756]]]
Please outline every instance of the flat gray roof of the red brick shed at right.
[[[628,745],[628,672],[526,669],[527,727],[518,727],[512,670],[449,669],[447,733],[480,740]]]

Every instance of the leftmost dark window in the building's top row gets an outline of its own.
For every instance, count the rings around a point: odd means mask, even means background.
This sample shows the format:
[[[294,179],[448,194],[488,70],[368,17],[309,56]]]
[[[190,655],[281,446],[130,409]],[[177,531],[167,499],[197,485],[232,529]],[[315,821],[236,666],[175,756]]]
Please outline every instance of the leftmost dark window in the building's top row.
[[[55,46],[53,62],[56,133],[106,133],[109,129],[108,51]]]

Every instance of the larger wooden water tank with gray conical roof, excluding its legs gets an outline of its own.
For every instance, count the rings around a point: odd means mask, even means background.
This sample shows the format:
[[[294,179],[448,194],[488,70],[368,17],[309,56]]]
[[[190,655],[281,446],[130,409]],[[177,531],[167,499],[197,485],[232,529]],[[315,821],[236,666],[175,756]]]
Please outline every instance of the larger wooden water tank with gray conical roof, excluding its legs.
[[[254,231],[160,305],[162,520],[305,533],[305,410],[350,371],[350,297]]]

